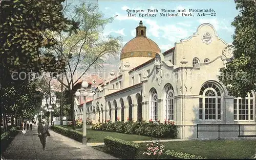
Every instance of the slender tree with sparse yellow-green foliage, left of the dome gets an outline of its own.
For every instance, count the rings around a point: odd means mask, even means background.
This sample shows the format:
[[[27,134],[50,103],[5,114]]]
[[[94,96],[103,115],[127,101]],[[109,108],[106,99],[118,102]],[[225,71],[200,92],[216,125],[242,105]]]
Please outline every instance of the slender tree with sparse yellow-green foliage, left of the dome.
[[[71,117],[75,129],[74,93],[75,84],[87,73],[91,66],[99,66],[106,57],[116,56],[121,48],[120,37],[103,37],[102,31],[105,24],[113,21],[114,17],[104,19],[99,13],[98,6],[92,3],[81,3],[75,7],[74,21],[79,21],[79,28],[73,33],[45,32],[45,37],[54,40],[55,44],[47,52],[54,50],[57,57],[66,62],[65,80],[58,81],[69,92],[71,104]]]

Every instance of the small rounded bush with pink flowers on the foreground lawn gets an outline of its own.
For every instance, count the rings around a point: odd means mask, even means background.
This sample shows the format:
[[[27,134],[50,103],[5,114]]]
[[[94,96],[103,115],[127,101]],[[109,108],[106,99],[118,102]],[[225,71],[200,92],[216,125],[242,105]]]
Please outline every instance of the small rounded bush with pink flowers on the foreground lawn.
[[[155,156],[159,156],[163,154],[163,144],[159,143],[159,140],[157,141],[152,141],[152,139],[150,140],[150,142],[147,143],[147,150],[143,153],[149,157],[155,157]]]

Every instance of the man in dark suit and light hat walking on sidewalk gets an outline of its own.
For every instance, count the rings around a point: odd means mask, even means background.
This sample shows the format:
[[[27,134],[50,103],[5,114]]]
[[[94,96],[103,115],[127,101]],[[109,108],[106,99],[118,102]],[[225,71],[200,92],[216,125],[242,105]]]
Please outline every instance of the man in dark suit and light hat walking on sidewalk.
[[[41,122],[42,123],[38,124],[37,132],[38,132],[38,137],[40,139],[40,142],[42,144],[42,150],[46,150],[46,138],[47,136],[51,136],[51,135],[48,131],[49,125],[46,124],[46,119],[43,118]]]

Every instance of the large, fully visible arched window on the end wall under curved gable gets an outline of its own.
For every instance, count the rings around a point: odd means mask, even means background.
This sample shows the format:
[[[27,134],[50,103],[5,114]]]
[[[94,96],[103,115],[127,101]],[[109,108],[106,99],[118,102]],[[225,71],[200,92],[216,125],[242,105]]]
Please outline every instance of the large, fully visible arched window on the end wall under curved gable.
[[[215,84],[205,84],[199,98],[199,119],[200,120],[221,120],[222,97],[219,87]]]

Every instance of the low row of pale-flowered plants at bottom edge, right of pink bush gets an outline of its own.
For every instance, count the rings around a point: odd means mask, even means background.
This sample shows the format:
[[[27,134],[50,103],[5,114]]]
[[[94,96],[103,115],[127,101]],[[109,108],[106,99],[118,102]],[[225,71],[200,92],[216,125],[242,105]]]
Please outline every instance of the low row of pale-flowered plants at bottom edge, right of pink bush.
[[[202,156],[197,156],[194,154],[188,154],[183,152],[177,152],[174,150],[166,150],[164,154],[166,158],[168,157],[168,158],[178,158],[178,159],[206,159],[205,157],[202,157]]]

